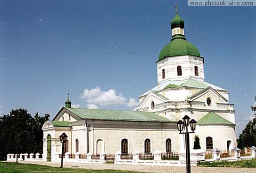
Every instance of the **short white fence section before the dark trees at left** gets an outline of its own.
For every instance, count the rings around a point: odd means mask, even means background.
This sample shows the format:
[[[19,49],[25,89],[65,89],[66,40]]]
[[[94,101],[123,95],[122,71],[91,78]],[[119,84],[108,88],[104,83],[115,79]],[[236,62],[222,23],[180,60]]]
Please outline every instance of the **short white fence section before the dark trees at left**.
[[[8,154],[7,155],[7,161],[16,161],[18,158],[18,161],[25,160],[25,161],[38,161],[42,160],[42,155],[39,153],[36,154]]]

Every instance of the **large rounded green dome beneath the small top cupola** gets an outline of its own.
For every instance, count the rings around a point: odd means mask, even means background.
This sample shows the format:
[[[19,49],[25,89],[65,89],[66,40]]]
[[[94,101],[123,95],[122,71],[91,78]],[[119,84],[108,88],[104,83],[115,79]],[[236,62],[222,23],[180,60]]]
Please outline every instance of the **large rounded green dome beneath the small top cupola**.
[[[200,56],[198,48],[181,35],[176,35],[171,39],[171,42],[159,53],[158,60],[163,60],[170,56]]]

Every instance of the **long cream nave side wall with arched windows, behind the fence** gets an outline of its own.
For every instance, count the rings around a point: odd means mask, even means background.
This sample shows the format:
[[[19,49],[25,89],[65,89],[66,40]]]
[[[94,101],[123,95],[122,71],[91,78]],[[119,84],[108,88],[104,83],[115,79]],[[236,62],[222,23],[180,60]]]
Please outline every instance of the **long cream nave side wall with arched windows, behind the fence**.
[[[152,125],[122,125],[122,124],[108,124],[97,125],[94,124],[93,138],[94,149],[90,148],[91,152],[96,152],[97,139],[104,141],[104,149],[106,153],[115,153],[121,151],[121,141],[126,138],[128,140],[128,150],[132,152],[138,150],[144,152],[144,141],[149,138],[151,142],[151,151],[162,150],[165,151],[165,139],[170,138],[172,140],[172,150],[179,150],[179,134],[176,126],[172,129],[166,129],[167,127],[159,127]],[[170,127],[169,127],[170,128]],[[91,141],[91,135],[89,135],[89,141]],[[159,140],[161,139],[161,140]]]

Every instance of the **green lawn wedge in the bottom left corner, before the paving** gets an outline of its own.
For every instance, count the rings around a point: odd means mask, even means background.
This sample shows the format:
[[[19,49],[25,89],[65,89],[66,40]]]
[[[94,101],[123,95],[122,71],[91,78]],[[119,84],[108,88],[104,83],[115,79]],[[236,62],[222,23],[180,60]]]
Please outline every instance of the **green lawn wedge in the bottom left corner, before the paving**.
[[[0,162],[0,173],[141,173],[122,170],[89,170]]]

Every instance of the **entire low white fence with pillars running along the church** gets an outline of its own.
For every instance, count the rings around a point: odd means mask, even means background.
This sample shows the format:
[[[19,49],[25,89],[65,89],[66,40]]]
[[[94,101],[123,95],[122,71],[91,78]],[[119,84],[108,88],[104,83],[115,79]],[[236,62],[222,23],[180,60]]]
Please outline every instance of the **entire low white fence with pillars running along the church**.
[[[241,156],[242,155],[242,156]],[[17,155],[8,154],[7,161],[16,161]],[[190,163],[191,165],[197,165],[198,162],[202,161],[235,161],[235,160],[244,160],[256,158],[256,147],[251,147],[249,152],[244,152],[241,154],[239,148],[234,148],[230,151],[220,151],[214,149],[211,151],[203,150],[191,150],[190,151]],[[98,163],[104,164],[107,162],[112,162],[115,164],[122,165],[185,165],[186,164],[186,155],[185,150],[180,152],[171,152],[171,153],[162,153],[160,150],[156,150],[153,153],[140,153],[135,150],[132,153],[122,154],[120,151],[117,151],[115,154],[107,154],[101,152],[99,155],[95,155],[91,152],[87,154],[81,154],[76,152],[75,154],[70,154],[66,152],[64,155],[65,162],[75,162],[75,163]],[[39,153],[35,155],[31,154],[20,154],[18,155],[18,160],[25,161],[39,161],[43,160]],[[52,162],[60,162],[61,155],[60,153],[55,153],[51,157]],[[46,160],[45,160],[46,161]]]

